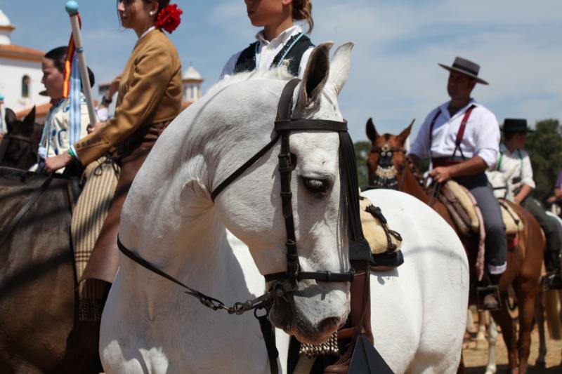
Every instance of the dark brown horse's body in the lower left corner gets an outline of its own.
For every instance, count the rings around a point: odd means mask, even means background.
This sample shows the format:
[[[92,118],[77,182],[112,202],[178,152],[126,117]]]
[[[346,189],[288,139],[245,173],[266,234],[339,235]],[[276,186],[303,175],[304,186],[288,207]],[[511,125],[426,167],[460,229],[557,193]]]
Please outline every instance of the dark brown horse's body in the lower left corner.
[[[76,328],[69,182],[54,178],[36,195],[45,180],[0,168],[0,238],[9,232],[0,243],[0,373],[96,373],[98,337]]]

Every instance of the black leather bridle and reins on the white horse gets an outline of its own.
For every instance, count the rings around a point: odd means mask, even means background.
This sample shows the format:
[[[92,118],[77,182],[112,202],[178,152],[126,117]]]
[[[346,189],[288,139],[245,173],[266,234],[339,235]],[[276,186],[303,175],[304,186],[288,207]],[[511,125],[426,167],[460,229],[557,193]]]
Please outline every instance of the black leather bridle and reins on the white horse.
[[[117,238],[117,246],[119,247],[119,250],[139,265],[185,288],[187,290],[185,291],[185,293],[198,298],[200,302],[202,302],[202,304],[206,307],[214,310],[224,309],[229,314],[242,314],[251,309],[254,309],[254,315],[256,315],[257,309],[266,309],[266,311],[268,312],[270,307],[273,305],[273,301],[276,298],[286,298],[288,292],[296,289],[297,282],[304,279],[312,279],[315,281],[323,282],[353,281],[353,269],[350,269],[348,272],[340,273],[332,273],[329,271],[301,272],[299,254],[296,251],[296,235],[294,232],[294,219],[292,209],[291,173],[296,166],[296,158],[293,154],[291,154],[289,148],[289,135],[291,131],[335,131],[339,133],[339,157],[342,180],[341,191],[346,196],[346,206],[348,208],[348,233],[350,242],[363,240],[363,234],[361,230],[358,210],[359,197],[357,187],[357,171],[355,168],[355,150],[353,148],[353,142],[351,141],[351,138],[349,138],[347,132],[347,121],[331,121],[325,119],[292,119],[293,94],[294,89],[299,84],[299,82],[300,79],[292,79],[285,85],[285,88],[283,88],[279,105],[277,107],[277,118],[275,119],[275,135],[273,136],[273,139],[271,139],[265,147],[256,152],[254,156],[251,156],[248,161],[240,166],[240,168],[237,168],[234,173],[229,175],[228,178],[223,180],[223,182],[221,182],[211,192],[211,199],[214,201],[216,199],[216,196],[218,196],[218,194],[220,194],[223,189],[228,187],[228,185],[230,185],[230,183],[232,183],[240,175],[242,175],[244,171],[247,171],[247,169],[250,168],[254,163],[256,163],[256,161],[261,159],[261,157],[266,154],[266,152],[271,147],[273,147],[275,143],[277,143],[277,140],[281,139],[281,149],[278,155],[278,170],[281,176],[280,195],[282,200],[283,216],[285,218],[285,229],[287,232],[287,241],[285,242],[285,245],[287,246],[287,271],[265,275],[266,282],[273,282],[268,288],[267,293],[253,300],[248,300],[246,302],[236,302],[233,307],[226,307],[226,305],[220,300],[216,300],[215,298],[204,295],[200,291],[194,290],[189,286],[186,286],[181,281],[178,281],[174,277],[169,276],[169,274],[162,272],[162,270],[158,269],[148,261],[136,255],[136,253],[133,253],[128,248],[126,248],[121,243],[121,241],[119,241],[119,238]],[[287,287],[287,282],[289,283],[289,287]],[[265,316],[256,315],[256,318],[258,318],[260,321],[261,330],[266,340],[271,372],[277,373],[277,361],[275,361],[277,357],[274,340],[275,335],[273,335],[273,338],[271,337],[270,325],[268,325],[267,321],[267,314]]]

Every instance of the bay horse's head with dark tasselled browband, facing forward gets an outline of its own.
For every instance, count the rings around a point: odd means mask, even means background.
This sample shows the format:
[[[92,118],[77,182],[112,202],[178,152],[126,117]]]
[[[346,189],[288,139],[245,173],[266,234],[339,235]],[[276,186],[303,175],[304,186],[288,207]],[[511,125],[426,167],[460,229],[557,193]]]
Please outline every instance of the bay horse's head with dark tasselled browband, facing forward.
[[[369,185],[377,188],[400,189],[400,180],[406,166],[405,142],[412,131],[414,120],[399,135],[379,135],[372,119],[367,120],[365,131],[371,140],[367,156]]]

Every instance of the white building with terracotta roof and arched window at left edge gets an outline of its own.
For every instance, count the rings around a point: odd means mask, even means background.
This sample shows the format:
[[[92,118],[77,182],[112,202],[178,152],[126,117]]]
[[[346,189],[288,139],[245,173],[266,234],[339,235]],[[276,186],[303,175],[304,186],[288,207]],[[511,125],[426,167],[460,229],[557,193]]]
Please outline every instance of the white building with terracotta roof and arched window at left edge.
[[[44,90],[41,84],[44,52],[12,44],[14,29],[0,9],[0,95],[4,95],[4,108],[16,113],[37,105],[37,119],[41,119],[49,107],[49,99],[39,95]]]

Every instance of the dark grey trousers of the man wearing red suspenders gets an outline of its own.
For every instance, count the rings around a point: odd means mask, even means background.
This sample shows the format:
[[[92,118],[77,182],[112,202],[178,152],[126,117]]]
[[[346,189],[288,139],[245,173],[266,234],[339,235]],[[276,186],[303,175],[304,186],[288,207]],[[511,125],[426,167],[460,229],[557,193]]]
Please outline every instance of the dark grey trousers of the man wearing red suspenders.
[[[488,265],[490,274],[499,274],[502,271],[495,269],[504,267],[507,261],[507,238],[505,236],[505,225],[502,218],[502,211],[499,203],[494,196],[492,187],[488,184],[488,178],[484,173],[471,177],[455,178],[460,185],[469,189],[484,219],[484,229],[486,232],[485,241],[485,262]]]

